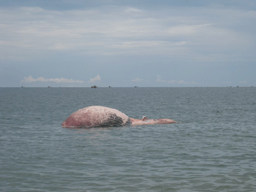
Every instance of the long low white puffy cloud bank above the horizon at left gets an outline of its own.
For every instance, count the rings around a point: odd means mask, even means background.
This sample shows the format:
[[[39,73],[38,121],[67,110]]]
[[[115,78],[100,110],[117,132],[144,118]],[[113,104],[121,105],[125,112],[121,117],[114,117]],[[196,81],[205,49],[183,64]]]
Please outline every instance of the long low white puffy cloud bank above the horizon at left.
[[[37,79],[34,79],[32,76],[24,77],[24,79],[20,81],[20,83],[33,83],[33,82],[84,83],[84,81],[64,79],[62,77],[61,79],[44,79],[44,77],[38,77]]]

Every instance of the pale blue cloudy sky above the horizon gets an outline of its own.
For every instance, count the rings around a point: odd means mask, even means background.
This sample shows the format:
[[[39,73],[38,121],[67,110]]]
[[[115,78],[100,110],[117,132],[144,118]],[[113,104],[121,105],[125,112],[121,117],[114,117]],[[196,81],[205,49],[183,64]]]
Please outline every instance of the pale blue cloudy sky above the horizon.
[[[0,0],[0,87],[256,86],[255,0]]]

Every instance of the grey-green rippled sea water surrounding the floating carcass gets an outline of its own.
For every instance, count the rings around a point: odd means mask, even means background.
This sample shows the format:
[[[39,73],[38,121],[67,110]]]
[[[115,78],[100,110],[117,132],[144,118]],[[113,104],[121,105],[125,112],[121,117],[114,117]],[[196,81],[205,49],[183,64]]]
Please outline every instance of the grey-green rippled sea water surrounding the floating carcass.
[[[179,123],[61,127],[91,105]],[[0,191],[256,191],[256,88],[0,88]]]

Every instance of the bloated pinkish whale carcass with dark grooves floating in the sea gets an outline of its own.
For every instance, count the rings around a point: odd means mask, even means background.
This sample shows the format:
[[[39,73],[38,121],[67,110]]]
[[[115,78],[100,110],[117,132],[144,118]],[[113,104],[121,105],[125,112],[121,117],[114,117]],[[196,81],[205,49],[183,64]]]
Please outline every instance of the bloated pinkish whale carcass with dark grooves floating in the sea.
[[[63,123],[67,128],[118,127],[176,123],[172,119],[133,119],[117,109],[105,106],[87,106],[72,113]]]

